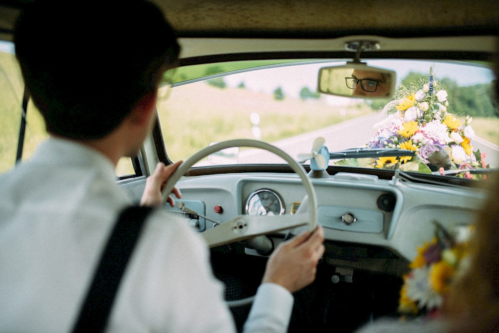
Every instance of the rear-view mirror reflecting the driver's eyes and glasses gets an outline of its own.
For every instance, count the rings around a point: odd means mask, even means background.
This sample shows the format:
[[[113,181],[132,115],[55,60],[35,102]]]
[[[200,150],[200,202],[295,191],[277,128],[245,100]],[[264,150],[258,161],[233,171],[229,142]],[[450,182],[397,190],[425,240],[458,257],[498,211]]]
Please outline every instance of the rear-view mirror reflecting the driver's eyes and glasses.
[[[394,95],[396,73],[365,63],[319,69],[317,91],[354,98],[389,98]]]

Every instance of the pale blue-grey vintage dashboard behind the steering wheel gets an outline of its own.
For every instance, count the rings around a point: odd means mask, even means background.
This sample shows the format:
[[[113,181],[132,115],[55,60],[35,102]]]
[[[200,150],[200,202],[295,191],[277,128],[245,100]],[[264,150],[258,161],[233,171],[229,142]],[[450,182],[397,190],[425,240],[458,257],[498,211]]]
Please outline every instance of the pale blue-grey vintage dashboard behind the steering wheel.
[[[417,247],[434,236],[434,221],[449,230],[474,222],[484,192],[337,173],[313,178],[317,222],[324,227],[328,263],[350,269],[401,274]],[[295,213],[306,194],[300,178],[287,173],[224,173],[185,176],[177,206],[199,232],[241,214]],[[178,203],[181,202],[181,205]],[[181,206],[187,207],[182,210]],[[278,243],[286,232],[268,235]],[[247,249],[248,255],[258,255]]]

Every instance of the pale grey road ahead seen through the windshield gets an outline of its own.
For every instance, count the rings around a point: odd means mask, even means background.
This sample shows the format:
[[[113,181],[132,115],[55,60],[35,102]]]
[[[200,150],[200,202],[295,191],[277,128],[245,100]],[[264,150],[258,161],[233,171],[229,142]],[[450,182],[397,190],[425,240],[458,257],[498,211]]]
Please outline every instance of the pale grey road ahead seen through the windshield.
[[[385,118],[386,116],[380,113],[362,116],[338,125],[280,140],[272,145],[290,154],[294,159],[298,159],[297,154],[299,153],[310,153],[312,143],[317,137],[326,139],[326,146],[330,152],[361,147],[371,140],[375,131],[374,125]],[[499,147],[497,145],[478,137],[472,140],[471,144],[474,150],[480,149],[480,152],[487,153],[486,161],[488,164],[491,166],[499,165]],[[282,163],[283,160],[272,153],[259,149],[243,150],[239,154],[239,163],[259,162]]]

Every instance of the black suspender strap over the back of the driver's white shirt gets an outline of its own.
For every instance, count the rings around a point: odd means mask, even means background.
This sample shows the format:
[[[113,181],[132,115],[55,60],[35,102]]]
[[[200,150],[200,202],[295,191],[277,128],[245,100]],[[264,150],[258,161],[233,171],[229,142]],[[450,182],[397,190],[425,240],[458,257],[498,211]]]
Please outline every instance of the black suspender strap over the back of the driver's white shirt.
[[[118,290],[135,244],[151,207],[127,207],[118,220],[97,267],[90,290],[83,303],[73,333],[104,332]]]

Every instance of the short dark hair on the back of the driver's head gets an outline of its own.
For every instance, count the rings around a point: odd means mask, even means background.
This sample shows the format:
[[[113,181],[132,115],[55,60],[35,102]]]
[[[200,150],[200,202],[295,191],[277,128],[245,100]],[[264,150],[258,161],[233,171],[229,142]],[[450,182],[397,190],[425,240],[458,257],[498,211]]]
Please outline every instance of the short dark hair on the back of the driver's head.
[[[71,139],[112,132],[180,51],[163,13],[138,0],[35,2],[17,20],[14,44],[47,131]]]

